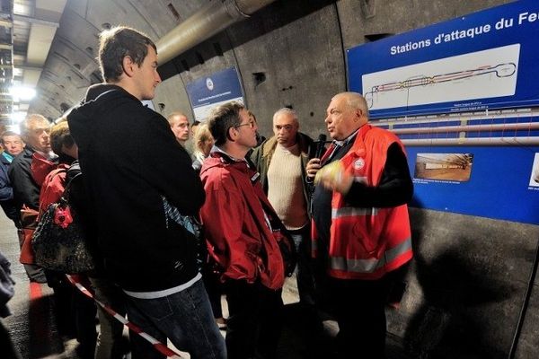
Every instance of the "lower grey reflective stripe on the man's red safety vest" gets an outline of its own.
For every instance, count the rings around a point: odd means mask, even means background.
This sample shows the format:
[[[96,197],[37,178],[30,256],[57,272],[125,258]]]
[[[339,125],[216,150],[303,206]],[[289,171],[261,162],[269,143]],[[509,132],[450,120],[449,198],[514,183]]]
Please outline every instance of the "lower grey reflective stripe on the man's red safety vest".
[[[343,257],[331,257],[331,269],[343,270],[354,273],[372,273],[380,267],[384,267],[394,259],[411,250],[411,238],[402,241],[398,246],[391,250],[386,250],[384,255],[379,258],[354,259]]]

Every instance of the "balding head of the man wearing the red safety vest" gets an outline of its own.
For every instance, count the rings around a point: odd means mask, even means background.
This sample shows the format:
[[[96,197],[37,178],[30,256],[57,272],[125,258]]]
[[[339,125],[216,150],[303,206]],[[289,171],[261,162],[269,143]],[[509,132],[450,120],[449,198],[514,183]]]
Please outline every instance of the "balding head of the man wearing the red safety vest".
[[[367,101],[357,92],[340,92],[331,99],[326,114],[331,138],[341,141],[368,122]]]

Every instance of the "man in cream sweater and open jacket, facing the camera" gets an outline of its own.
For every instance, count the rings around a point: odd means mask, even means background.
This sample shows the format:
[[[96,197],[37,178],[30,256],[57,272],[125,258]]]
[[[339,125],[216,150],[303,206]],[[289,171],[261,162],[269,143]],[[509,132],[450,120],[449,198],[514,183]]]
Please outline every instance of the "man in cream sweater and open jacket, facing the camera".
[[[261,185],[287,227],[298,251],[297,289],[304,305],[314,303],[313,279],[309,267],[311,225],[310,191],[305,182],[305,167],[314,155],[314,142],[302,134],[294,109],[278,109],[273,115],[274,136],[265,140],[251,155]]]

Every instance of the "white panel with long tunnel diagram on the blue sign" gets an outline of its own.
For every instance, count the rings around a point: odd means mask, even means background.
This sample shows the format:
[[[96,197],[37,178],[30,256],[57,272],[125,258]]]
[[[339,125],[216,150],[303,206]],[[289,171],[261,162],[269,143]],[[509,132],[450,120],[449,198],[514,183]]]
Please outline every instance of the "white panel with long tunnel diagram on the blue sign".
[[[369,109],[512,96],[520,44],[361,76]]]

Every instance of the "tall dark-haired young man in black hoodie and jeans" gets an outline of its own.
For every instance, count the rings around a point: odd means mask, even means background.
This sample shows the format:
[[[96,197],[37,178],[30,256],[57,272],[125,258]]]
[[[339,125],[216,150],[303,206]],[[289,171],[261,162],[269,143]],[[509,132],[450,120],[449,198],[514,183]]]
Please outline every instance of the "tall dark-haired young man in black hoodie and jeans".
[[[67,121],[105,270],[126,294],[129,319],[146,333],[162,343],[169,338],[191,357],[225,358],[199,273],[196,231],[180,221],[199,214],[204,189],[166,119],[141,103],[161,83],[155,43],[123,26],[100,39],[105,83],[88,88]],[[132,354],[163,357],[137,335]]]

